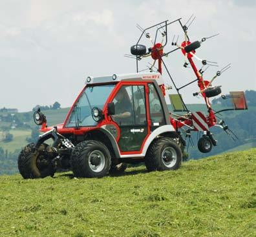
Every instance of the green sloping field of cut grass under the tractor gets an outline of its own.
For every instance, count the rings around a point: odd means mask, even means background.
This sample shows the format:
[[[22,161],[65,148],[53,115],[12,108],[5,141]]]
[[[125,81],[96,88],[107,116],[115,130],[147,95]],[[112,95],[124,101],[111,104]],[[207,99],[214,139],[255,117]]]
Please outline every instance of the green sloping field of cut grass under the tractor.
[[[0,236],[256,236],[256,149],[123,176],[0,176]]]

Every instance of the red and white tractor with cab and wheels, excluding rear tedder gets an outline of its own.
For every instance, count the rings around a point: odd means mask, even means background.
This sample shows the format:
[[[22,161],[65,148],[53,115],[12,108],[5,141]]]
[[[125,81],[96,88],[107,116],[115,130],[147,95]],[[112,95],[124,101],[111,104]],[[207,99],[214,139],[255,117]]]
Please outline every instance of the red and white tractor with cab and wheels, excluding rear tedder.
[[[59,167],[76,177],[102,177],[142,161],[147,170],[178,169],[185,143],[171,125],[163,84],[159,72],[87,77],[63,124],[48,127],[34,113],[44,133],[21,151],[21,176],[53,176]]]

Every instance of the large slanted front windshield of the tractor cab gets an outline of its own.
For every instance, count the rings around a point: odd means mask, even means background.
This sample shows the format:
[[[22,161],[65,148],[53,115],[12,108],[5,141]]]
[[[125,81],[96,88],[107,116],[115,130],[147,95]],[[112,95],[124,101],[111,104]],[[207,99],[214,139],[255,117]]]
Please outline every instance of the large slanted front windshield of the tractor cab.
[[[92,119],[92,108],[102,109],[114,87],[115,85],[86,87],[76,102],[65,127],[95,126],[96,121]]]

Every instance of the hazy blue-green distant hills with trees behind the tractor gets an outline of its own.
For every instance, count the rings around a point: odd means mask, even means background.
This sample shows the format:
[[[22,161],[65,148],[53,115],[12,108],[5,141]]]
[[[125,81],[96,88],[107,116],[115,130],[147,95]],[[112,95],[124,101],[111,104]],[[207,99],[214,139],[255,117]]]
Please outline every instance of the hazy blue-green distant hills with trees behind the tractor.
[[[224,107],[221,105],[213,105],[215,110],[220,110]],[[169,110],[172,111],[171,105],[168,105]],[[204,111],[206,112],[205,104],[193,104],[187,105],[191,111]],[[44,110],[43,113],[47,116],[48,125],[56,125],[63,123],[69,108],[59,108],[58,110]],[[1,116],[7,116],[7,121],[0,121],[0,174],[14,174],[17,172],[17,156],[30,138],[32,129],[39,129],[34,124],[32,112],[20,112],[20,113],[6,113],[0,112]],[[250,106],[249,110],[239,110],[224,112],[220,119],[224,119],[237,136],[238,141],[233,141],[228,135],[221,129],[213,128],[214,137],[218,140],[217,147],[214,147],[209,154],[202,154],[197,149],[197,133],[193,132],[193,143],[195,146],[189,145],[189,158],[199,159],[211,156],[213,154],[220,154],[226,150],[239,149],[244,150],[250,147],[255,147],[256,143],[256,107]],[[13,123],[16,122],[16,129],[10,129]],[[13,135],[13,140],[10,142],[3,141],[5,136],[5,129]],[[188,143],[188,140],[187,140]],[[1,152],[2,149],[2,152]]]

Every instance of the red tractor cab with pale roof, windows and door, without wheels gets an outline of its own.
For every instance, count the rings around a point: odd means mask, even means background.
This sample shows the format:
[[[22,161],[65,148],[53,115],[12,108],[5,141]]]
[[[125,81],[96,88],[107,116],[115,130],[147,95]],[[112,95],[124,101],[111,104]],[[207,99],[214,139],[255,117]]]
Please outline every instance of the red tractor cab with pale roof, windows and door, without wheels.
[[[131,151],[144,156],[143,145],[151,132],[171,126],[159,73],[87,77],[86,83],[65,122],[57,127],[72,143],[78,142],[78,135],[101,130],[114,138],[116,156]],[[43,125],[41,131],[50,129]]]

